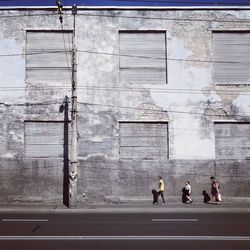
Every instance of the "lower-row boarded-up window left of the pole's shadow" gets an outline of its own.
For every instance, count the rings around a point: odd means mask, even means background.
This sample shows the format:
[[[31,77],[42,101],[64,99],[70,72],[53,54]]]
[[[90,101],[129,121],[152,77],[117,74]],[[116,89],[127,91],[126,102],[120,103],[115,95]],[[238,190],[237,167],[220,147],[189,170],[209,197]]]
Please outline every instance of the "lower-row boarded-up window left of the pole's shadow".
[[[26,121],[24,125],[25,157],[63,157],[67,147],[65,143],[67,140],[70,142],[64,122]]]

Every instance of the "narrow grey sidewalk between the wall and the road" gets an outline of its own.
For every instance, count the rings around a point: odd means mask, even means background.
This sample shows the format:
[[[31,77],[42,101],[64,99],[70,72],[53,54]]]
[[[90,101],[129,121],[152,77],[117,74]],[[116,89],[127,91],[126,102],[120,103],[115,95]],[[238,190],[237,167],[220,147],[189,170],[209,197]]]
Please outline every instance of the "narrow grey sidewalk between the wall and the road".
[[[220,205],[176,201],[153,205],[149,201],[113,203],[81,203],[70,209],[55,203],[0,204],[0,213],[250,213],[249,202],[222,202]]]

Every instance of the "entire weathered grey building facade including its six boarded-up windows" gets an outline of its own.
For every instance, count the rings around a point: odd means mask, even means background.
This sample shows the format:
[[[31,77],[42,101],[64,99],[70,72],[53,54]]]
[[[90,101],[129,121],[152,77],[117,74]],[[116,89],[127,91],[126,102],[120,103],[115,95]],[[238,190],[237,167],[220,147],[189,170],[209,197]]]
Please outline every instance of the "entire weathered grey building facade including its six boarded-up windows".
[[[73,15],[0,10],[1,201],[66,196]],[[250,9],[79,8],[78,201],[250,195]],[[83,197],[83,194],[85,197]]]

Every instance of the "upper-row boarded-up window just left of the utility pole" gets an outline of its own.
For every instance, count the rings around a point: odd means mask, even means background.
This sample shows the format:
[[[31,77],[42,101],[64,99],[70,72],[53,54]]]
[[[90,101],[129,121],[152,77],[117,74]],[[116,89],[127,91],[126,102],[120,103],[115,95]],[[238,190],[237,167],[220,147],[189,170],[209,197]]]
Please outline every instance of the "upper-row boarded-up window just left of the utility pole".
[[[69,31],[27,31],[26,81],[69,84],[71,44]]]

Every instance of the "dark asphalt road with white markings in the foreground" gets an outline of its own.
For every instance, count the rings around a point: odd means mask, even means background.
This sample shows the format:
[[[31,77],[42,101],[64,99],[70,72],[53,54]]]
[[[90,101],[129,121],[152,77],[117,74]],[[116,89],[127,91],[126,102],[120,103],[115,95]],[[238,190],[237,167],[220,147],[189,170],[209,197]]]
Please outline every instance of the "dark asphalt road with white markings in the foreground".
[[[1,250],[250,249],[250,213],[0,214]]]

